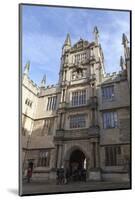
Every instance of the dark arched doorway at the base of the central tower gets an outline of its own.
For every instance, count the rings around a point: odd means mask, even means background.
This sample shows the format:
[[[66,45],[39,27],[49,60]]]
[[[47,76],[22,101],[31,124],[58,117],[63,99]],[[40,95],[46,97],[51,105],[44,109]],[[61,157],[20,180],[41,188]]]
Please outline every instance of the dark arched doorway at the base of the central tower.
[[[86,180],[86,157],[81,150],[72,151],[69,158],[69,170],[73,181]]]

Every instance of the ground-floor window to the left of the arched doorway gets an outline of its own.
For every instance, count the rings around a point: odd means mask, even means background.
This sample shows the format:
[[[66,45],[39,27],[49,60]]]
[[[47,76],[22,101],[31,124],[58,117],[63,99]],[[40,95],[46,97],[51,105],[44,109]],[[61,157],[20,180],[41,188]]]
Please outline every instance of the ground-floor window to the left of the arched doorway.
[[[49,167],[50,152],[48,150],[39,151],[38,167]]]

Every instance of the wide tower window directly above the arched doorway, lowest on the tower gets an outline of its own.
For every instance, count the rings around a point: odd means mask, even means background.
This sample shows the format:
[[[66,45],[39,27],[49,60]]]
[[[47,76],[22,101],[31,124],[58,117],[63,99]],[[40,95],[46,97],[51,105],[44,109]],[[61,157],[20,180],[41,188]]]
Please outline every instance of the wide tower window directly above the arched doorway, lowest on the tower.
[[[70,128],[84,128],[86,126],[86,115],[71,115]]]

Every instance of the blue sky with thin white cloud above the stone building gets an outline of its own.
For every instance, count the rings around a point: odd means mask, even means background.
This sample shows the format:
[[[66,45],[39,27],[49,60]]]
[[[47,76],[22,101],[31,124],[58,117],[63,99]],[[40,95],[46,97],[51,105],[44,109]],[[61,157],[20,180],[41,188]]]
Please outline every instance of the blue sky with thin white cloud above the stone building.
[[[40,84],[46,74],[47,85],[58,82],[61,48],[67,33],[72,45],[80,38],[93,41],[97,26],[105,57],[107,73],[119,71],[122,34],[130,36],[129,12],[96,9],[23,6],[22,60],[23,67],[30,60],[30,78]]]

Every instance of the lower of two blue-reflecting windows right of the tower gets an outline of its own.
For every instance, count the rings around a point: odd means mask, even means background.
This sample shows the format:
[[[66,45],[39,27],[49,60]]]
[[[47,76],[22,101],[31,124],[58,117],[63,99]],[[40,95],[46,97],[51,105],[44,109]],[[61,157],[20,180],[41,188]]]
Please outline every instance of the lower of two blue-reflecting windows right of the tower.
[[[117,112],[103,113],[103,128],[116,128],[118,126]]]

